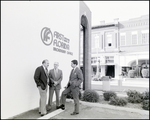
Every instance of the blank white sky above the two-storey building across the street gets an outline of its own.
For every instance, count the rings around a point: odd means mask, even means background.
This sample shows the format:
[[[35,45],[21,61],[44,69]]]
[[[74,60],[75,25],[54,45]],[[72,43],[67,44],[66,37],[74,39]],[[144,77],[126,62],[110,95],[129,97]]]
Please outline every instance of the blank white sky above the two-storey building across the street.
[[[149,1],[84,1],[92,12],[92,26],[149,15]]]

